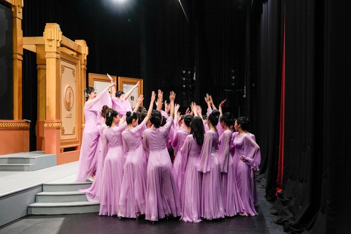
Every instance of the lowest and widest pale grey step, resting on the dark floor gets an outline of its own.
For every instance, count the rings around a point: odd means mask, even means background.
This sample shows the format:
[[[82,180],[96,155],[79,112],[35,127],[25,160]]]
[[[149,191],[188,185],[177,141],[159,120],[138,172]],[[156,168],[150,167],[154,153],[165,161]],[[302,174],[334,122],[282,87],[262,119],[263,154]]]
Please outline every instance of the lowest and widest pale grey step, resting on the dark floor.
[[[76,202],[35,202],[28,205],[28,214],[81,214],[99,212],[100,203]]]

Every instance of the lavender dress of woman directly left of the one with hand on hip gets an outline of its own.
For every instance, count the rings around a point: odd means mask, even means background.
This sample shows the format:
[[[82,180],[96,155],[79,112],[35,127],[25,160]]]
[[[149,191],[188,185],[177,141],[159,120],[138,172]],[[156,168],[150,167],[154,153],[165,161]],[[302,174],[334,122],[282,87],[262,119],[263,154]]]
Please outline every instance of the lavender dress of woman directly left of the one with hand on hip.
[[[220,171],[222,172],[223,205],[226,216],[234,216],[243,212],[239,190],[236,183],[235,167],[233,166],[233,154],[230,152],[230,140],[233,131],[226,130],[218,141],[218,157]]]

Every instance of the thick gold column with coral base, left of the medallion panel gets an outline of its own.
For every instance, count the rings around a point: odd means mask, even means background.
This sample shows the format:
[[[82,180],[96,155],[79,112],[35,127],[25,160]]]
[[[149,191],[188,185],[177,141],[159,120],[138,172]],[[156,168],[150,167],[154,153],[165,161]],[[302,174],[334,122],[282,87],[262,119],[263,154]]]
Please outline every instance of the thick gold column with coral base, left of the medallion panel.
[[[60,154],[60,45],[62,32],[55,23],[47,23],[44,30],[46,58],[46,118],[45,153]]]

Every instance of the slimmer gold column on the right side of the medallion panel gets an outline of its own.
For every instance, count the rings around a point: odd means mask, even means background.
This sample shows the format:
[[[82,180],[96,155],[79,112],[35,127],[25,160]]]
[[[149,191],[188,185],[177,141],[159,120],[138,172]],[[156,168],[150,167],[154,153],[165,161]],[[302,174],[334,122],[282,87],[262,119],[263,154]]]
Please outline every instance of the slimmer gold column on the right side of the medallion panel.
[[[85,40],[75,40],[75,43],[82,47],[82,52],[80,54],[77,53],[77,57],[80,59],[80,94],[79,98],[81,99],[81,138],[83,138],[85,120],[84,120],[84,103],[86,101],[84,97],[84,89],[86,88],[86,70],[87,70],[87,55],[89,54],[89,48],[85,42]],[[77,148],[77,149],[80,149]]]

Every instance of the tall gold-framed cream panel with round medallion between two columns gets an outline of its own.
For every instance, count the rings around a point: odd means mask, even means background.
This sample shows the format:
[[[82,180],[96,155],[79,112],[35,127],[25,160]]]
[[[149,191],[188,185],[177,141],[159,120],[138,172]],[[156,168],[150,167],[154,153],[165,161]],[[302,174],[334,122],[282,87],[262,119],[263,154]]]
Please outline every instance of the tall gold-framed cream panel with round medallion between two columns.
[[[60,146],[68,148],[81,145],[80,59],[64,51],[60,52],[60,58]]]

